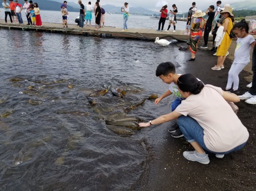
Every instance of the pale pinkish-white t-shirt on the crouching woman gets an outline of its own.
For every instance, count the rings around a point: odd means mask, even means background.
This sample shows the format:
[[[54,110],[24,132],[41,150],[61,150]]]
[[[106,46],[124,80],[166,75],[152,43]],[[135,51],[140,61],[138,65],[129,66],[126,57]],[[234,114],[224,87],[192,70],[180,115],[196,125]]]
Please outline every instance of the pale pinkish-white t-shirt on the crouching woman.
[[[225,152],[247,141],[249,133],[231,106],[223,98],[223,90],[205,85],[199,94],[191,94],[181,101],[176,112],[194,118],[204,132],[206,147]]]

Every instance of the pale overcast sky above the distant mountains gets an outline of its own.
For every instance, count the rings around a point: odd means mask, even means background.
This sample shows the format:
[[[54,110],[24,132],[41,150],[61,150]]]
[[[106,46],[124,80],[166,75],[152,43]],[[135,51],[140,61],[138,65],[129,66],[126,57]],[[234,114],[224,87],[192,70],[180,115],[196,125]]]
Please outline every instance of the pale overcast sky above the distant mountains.
[[[78,2],[78,0],[68,0],[73,2]],[[91,1],[94,4],[96,0],[82,0],[83,4],[86,5],[88,2]],[[150,10],[159,11],[159,8],[156,7],[158,1],[162,0],[100,0],[101,4],[112,4],[115,6],[123,6],[124,2],[128,2],[129,6],[141,6]],[[216,6],[217,0],[166,0],[168,2],[168,9],[172,8],[172,4],[176,4],[179,12],[186,12],[191,7],[192,2],[196,2],[197,9],[205,10],[209,5]],[[222,6],[226,3],[233,3],[243,0],[221,0]]]

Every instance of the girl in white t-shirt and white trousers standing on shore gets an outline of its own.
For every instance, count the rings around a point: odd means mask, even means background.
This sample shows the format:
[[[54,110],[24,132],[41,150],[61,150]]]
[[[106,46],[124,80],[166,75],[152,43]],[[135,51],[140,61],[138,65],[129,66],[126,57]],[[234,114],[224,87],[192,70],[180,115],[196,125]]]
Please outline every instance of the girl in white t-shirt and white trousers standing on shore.
[[[250,62],[250,48],[255,45],[255,39],[249,34],[249,25],[245,19],[234,24],[233,33],[237,37],[234,61],[228,71],[226,91],[238,93],[239,73]],[[231,88],[233,83],[233,88]],[[240,97],[241,98],[241,97]]]

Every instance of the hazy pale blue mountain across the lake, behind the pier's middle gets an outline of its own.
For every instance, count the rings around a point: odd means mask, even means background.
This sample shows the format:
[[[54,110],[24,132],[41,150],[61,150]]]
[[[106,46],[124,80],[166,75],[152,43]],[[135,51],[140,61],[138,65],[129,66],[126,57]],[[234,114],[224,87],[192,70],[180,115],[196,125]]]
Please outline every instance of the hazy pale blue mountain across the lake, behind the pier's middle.
[[[114,6],[111,4],[103,4],[102,7],[105,9],[106,12],[111,13],[121,13],[120,6]],[[159,12],[152,11],[143,7],[129,7],[131,14],[138,14],[138,15],[152,15],[152,14],[159,14]]]

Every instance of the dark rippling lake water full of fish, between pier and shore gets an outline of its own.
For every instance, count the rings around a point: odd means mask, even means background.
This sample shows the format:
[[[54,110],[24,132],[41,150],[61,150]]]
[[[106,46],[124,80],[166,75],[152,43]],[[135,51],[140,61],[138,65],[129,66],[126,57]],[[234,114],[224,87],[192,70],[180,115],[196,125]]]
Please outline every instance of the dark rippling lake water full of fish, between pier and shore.
[[[0,38],[0,114],[8,115],[0,117],[1,189],[131,190],[140,184],[153,157],[151,129],[120,136],[104,119],[115,113],[148,121],[168,112],[170,98],[125,109],[164,93],[168,85],[156,77],[157,65],[173,61],[182,73],[189,53],[175,44],[64,33],[0,29]],[[96,105],[88,102],[89,93],[108,87],[126,95],[107,92],[94,97]]]

